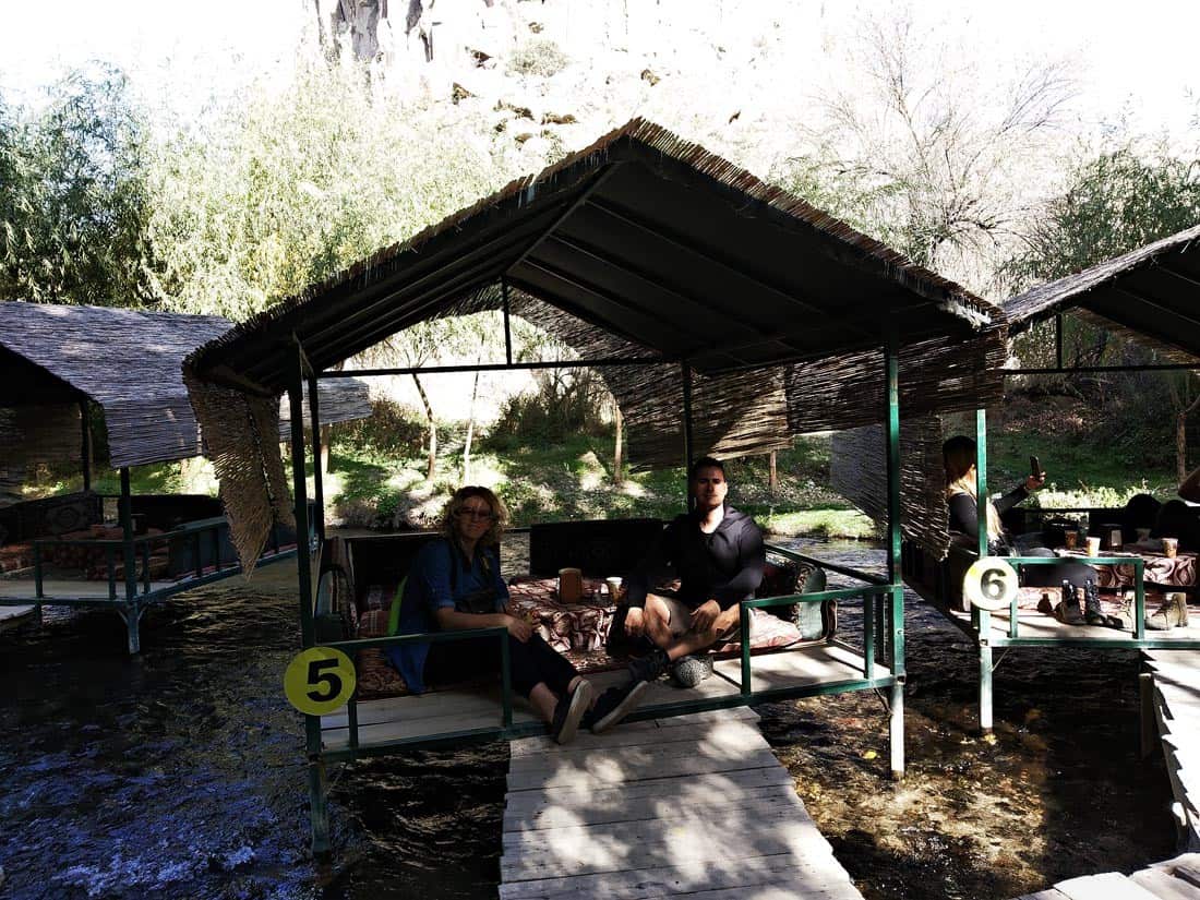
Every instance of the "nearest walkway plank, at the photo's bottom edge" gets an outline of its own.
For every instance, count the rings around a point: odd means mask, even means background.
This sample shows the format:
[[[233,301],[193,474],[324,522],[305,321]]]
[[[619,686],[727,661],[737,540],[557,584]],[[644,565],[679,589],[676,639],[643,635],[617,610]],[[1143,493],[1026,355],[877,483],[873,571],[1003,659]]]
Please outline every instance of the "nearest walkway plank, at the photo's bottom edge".
[[[816,876],[816,877],[814,877]],[[650,896],[694,895],[697,890],[745,888],[786,880],[792,886],[792,896],[820,896],[810,894],[811,882],[820,878],[829,890],[845,887],[853,889],[844,870],[830,871],[828,866],[798,863],[790,853],[740,860],[736,865],[725,862],[704,860],[696,865],[655,866],[630,871],[604,872],[600,875],[572,875],[518,881],[500,884],[500,900],[641,900]],[[798,894],[797,889],[804,889]],[[834,894],[840,895],[840,894]],[[857,892],[852,896],[857,896]]]

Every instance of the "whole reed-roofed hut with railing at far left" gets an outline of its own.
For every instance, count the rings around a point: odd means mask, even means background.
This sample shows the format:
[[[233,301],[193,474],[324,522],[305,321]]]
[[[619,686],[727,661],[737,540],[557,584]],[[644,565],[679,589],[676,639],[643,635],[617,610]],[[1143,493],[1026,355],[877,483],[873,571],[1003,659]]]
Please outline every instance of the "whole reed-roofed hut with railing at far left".
[[[205,452],[182,360],[230,326],[212,316],[0,304],[0,606],[28,606],[35,616],[43,605],[112,608],[137,653],[148,607],[241,571],[217,498],[134,494],[130,475],[136,466]],[[370,413],[360,383],[323,394],[326,421]],[[92,430],[101,422],[119,494],[92,490]],[[74,468],[82,490],[22,499],[40,463]],[[288,558],[295,546],[294,528],[272,526],[251,562]]]

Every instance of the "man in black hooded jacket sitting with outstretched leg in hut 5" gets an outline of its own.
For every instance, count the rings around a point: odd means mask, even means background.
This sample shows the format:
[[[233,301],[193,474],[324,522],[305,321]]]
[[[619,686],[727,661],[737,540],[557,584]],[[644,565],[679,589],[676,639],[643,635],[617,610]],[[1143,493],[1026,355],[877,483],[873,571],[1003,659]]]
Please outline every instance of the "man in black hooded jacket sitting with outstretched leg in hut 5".
[[[694,686],[712,672],[710,660],[694,654],[737,635],[742,600],[754,596],[767,562],[762,532],[754,518],[725,504],[730,486],[725,467],[710,456],[691,466],[689,488],[696,506],[677,516],[629,578],[624,629],[644,636],[654,649],[635,659],[631,680],[611,689],[596,703],[594,731],[620,721],[649,682],[671,668],[682,686]],[[649,592],[650,578],[670,565],[679,589]]]

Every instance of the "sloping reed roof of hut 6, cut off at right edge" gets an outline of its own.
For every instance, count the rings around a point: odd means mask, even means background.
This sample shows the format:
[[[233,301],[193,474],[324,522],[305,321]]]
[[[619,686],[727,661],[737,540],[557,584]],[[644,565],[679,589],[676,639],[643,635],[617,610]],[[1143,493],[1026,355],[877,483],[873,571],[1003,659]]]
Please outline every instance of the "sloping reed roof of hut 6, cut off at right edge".
[[[1141,343],[1200,356],[1200,224],[1039,284],[1003,310],[1014,331],[1081,312]]]

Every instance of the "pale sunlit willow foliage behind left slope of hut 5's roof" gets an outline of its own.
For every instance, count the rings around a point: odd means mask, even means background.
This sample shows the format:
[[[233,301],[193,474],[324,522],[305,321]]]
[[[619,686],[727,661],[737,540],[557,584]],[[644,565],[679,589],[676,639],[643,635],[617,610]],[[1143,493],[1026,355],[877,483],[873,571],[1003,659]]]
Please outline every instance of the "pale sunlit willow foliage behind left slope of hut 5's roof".
[[[169,305],[235,320],[414,234],[505,180],[485,133],[301,62],[158,148],[151,234]]]

